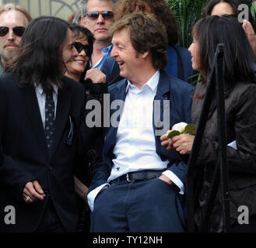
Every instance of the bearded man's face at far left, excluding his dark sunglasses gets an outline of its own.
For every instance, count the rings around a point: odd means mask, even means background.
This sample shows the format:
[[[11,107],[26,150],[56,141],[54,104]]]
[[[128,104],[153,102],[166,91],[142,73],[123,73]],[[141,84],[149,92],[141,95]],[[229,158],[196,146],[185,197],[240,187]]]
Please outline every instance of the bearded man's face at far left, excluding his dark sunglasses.
[[[14,33],[12,28],[15,26],[26,27],[27,23],[26,16],[16,10],[2,12],[0,15],[0,26],[9,28],[8,33],[0,36],[0,56],[3,61],[9,62],[9,60],[12,60],[22,39],[22,36]]]

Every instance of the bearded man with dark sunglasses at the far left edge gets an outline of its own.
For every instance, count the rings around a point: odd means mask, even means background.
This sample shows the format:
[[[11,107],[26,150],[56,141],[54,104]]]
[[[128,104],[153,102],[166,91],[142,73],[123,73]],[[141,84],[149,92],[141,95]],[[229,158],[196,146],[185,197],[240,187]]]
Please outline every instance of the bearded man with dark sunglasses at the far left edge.
[[[6,4],[0,8],[1,72],[2,67],[15,57],[26,26],[31,20],[30,13],[22,6]]]

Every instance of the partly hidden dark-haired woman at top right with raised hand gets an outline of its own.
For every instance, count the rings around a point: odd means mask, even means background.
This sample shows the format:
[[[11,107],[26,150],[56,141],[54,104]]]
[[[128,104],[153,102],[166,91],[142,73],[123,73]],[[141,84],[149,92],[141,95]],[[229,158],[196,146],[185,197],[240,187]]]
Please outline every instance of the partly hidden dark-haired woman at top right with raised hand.
[[[249,19],[244,19],[243,28],[254,50],[254,54],[256,54],[255,21],[251,15],[249,4],[250,1],[248,0],[212,0],[205,6],[202,17],[207,15],[234,15],[238,18],[239,14],[244,11],[244,9],[240,9],[239,6],[248,5]]]

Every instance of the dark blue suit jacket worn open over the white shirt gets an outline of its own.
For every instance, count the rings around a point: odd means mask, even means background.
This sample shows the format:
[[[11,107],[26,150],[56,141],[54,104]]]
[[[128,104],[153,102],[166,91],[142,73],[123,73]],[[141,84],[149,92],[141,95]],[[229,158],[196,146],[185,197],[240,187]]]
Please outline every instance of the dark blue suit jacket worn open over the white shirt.
[[[113,84],[109,88],[110,105],[114,100],[125,100],[127,87],[127,79]],[[170,128],[178,122],[191,123],[191,95],[193,87],[176,77],[169,76],[165,72],[160,72],[160,81],[157,86],[155,100],[160,100],[163,107],[163,100],[170,100]],[[110,116],[116,110],[110,109]],[[160,118],[163,119],[163,108],[161,108]],[[153,129],[156,131],[156,125],[153,120]],[[156,133],[156,132],[155,132]],[[112,168],[112,160],[114,158],[113,150],[116,144],[117,127],[110,126],[105,130],[105,143],[103,146],[103,161],[96,164],[93,169],[93,181],[89,191],[107,182]],[[160,136],[155,136],[156,153],[162,160],[169,160],[169,170],[177,175],[181,181],[185,181],[187,165],[181,161],[179,154],[172,150],[167,150],[161,146]]]

